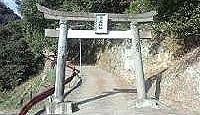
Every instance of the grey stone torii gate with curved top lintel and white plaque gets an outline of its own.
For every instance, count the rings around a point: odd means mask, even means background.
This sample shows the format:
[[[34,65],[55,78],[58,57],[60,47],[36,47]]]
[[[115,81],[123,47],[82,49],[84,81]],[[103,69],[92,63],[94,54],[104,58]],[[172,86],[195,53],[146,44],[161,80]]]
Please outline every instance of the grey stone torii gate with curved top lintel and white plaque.
[[[59,30],[45,29],[45,36],[59,37],[58,56],[56,65],[55,81],[55,102],[63,102],[64,79],[65,79],[65,51],[67,38],[114,38],[114,39],[132,39],[133,53],[135,55],[132,67],[135,68],[137,83],[137,99],[143,101],[146,99],[145,79],[143,72],[140,37],[138,23],[148,23],[153,21],[156,12],[147,12],[143,14],[108,14],[108,13],[69,13],[63,11],[51,10],[37,4],[38,10],[44,13],[46,19],[60,21]],[[130,30],[127,31],[108,31],[108,19],[115,22],[130,22]],[[95,30],[68,30],[67,21],[95,21]]]

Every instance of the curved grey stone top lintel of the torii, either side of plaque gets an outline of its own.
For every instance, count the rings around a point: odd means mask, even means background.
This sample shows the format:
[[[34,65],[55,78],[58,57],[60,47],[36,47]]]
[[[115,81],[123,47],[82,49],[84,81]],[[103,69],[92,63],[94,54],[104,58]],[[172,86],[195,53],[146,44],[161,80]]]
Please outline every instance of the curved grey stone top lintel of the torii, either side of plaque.
[[[73,13],[73,12],[64,12],[57,11],[46,8],[37,4],[37,8],[40,12],[44,13],[46,19],[55,19],[55,20],[80,20],[80,21],[95,21],[96,13]],[[113,14],[109,13],[109,19],[112,21],[118,22],[152,22],[153,16],[156,15],[155,11],[146,12],[142,14]]]

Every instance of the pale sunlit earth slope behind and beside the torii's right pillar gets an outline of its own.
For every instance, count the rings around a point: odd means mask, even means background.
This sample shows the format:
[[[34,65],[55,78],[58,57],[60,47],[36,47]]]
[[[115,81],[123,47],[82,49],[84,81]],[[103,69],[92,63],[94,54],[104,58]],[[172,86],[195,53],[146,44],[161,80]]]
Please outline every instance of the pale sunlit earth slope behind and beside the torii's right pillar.
[[[146,43],[145,43],[146,42]],[[200,48],[174,59],[169,51],[148,54],[150,41],[142,41],[146,92],[175,109],[200,111]],[[98,66],[123,77],[133,86],[135,74],[130,64],[134,58],[126,45],[113,46],[99,53]]]

